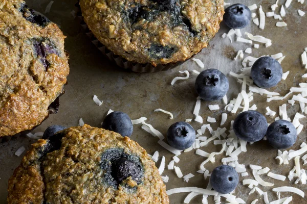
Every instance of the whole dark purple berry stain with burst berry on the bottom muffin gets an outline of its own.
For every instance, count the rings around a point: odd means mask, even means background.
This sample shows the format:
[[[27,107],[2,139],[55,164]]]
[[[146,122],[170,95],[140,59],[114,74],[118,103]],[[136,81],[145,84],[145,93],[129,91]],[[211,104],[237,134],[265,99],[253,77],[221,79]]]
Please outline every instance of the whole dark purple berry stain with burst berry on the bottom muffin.
[[[101,156],[100,166],[105,171],[104,182],[114,188],[121,185],[129,176],[137,184],[141,183],[143,167],[140,159],[133,155],[127,155],[123,149],[106,150]]]

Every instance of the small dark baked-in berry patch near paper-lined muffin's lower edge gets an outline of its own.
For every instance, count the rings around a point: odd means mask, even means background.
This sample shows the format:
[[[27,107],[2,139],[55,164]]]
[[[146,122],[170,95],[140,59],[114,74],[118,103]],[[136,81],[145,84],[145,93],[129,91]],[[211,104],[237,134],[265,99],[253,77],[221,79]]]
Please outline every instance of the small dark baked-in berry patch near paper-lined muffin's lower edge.
[[[150,48],[148,48],[149,56],[153,59],[170,58],[176,52],[176,48],[168,45],[151,44]]]

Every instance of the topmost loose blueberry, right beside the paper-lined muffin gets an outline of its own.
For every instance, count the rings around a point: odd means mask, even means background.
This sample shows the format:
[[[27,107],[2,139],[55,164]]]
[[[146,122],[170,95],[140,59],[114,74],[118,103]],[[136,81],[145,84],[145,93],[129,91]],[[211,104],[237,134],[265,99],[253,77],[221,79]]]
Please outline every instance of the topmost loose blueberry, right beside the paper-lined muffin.
[[[229,28],[243,29],[252,18],[251,10],[243,4],[234,4],[225,10],[224,22]]]

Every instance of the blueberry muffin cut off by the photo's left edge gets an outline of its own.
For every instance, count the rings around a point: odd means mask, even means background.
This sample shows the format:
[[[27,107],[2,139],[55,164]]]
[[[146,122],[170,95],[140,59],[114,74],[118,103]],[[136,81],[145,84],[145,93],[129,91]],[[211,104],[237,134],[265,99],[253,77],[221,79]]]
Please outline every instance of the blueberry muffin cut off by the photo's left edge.
[[[0,1],[0,137],[49,114],[69,74],[63,33],[21,0]]]

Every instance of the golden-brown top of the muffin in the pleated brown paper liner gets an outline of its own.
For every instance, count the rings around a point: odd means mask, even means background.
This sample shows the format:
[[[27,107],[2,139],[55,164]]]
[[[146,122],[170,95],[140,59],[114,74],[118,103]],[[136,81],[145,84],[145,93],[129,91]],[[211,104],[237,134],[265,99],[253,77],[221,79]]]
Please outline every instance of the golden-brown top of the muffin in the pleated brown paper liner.
[[[223,0],[80,0],[95,37],[128,61],[153,66],[184,61],[207,47]]]

